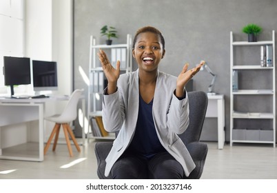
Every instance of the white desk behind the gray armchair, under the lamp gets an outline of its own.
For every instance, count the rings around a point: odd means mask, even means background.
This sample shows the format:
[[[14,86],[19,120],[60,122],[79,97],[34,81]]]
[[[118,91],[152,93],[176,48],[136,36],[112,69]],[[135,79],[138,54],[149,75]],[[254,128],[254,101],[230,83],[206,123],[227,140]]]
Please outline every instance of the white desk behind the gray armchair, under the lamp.
[[[218,149],[223,149],[225,143],[225,100],[223,94],[207,95],[206,117],[216,117],[218,123]]]

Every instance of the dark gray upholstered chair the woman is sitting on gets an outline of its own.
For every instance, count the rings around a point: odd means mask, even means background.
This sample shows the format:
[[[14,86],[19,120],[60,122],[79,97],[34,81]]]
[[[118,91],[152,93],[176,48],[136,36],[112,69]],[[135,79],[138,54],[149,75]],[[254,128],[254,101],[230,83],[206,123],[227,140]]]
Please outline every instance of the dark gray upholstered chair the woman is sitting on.
[[[207,144],[199,142],[208,99],[207,94],[202,91],[187,92],[187,94],[189,97],[189,126],[187,130],[179,136],[183,143],[185,143],[187,150],[189,150],[196,167],[185,179],[200,179],[208,151]],[[104,175],[106,165],[105,159],[111,148],[112,141],[97,142],[95,144],[94,151],[98,164],[97,175],[99,179],[111,179],[111,176],[106,177]]]

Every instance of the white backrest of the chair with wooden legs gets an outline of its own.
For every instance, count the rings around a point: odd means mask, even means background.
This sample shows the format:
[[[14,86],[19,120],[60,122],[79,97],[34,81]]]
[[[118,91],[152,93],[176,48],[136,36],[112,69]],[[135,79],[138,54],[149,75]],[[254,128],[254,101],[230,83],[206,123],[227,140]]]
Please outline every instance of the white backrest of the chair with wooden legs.
[[[68,100],[68,103],[66,104],[63,112],[61,113],[61,119],[65,119],[68,121],[73,121],[77,117],[77,105],[78,101],[81,98],[83,89],[76,89],[72,94],[70,95],[70,99]]]

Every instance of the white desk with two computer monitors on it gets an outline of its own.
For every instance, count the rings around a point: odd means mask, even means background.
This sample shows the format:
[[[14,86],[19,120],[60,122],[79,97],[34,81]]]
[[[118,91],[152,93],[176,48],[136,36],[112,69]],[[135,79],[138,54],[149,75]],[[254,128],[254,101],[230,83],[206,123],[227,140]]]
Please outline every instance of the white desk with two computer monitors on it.
[[[43,130],[44,130],[44,110],[46,102],[57,102],[68,100],[68,97],[50,97],[43,99],[4,99],[0,98],[0,159],[13,159],[22,161],[43,161]],[[82,100],[83,112],[85,108],[84,100]],[[1,127],[24,123],[29,121],[39,120],[39,154],[22,154],[20,149],[28,148],[28,146],[17,145],[19,150],[12,150],[12,152],[5,151],[1,148]],[[84,123],[84,116],[83,116]],[[10,137],[10,136],[8,136]],[[8,140],[8,139],[7,139]],[[85,133],[83,130],[83,144],[85,142]],[[7,148],[8,149],[8,148]]]

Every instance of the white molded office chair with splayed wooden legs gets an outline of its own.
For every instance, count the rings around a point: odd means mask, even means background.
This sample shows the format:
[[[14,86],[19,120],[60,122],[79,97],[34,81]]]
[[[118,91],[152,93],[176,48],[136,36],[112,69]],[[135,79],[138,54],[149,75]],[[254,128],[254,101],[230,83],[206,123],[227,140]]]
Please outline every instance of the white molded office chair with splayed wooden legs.
[[[63,112],[61,114],[45,118],[46,120],[52,121],[56,124],[54,125],[54,128],[50,134],[50,137],[45,145],[44,154],[46,154],[46,152],[48,151],[48,148],[50,146],[52,138],[54,137],[55,134],[56,134],[56,136],[54,139],[54,145],[53,145],[52,150],[53,150],[53,152],[54,152],[54,150],[56,150],[61,125],[63,125],[63,132],[65,134],[65,140],[68,145],[68,151],[69,151],[70,156],[73,156],[73,152],[72,152],[68,134],[70,134],[70,137],[71,137],[72,141],[74,142],[74,145],[76,146],[76,149],[78,150],[78,152],[81,152],[81,149],[79,148],[79,145],[75,139],[75,136],[70,128],[69,123],[71,121],[74,121],[77,117],[77,105],[78,105],[78,101],[81,97],[82,92],[83,92],[83,90],[79,90],[79,89],[74,90],[74,92],[72,92],[72,94],[70,96],[70,99],[69,99],[67,105],[65,106],[65,109],[63,110]]]

